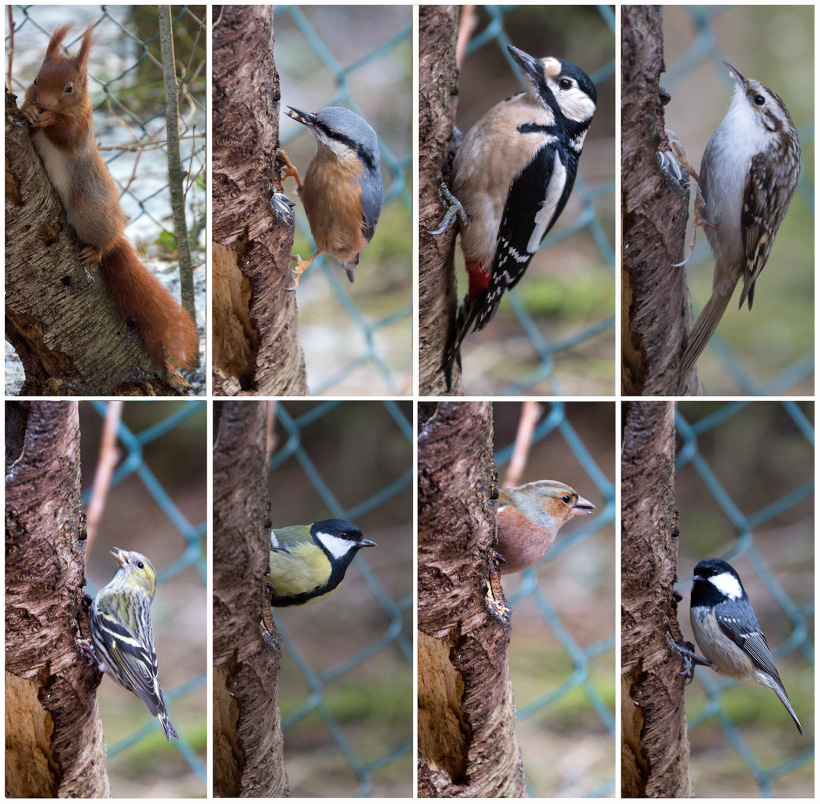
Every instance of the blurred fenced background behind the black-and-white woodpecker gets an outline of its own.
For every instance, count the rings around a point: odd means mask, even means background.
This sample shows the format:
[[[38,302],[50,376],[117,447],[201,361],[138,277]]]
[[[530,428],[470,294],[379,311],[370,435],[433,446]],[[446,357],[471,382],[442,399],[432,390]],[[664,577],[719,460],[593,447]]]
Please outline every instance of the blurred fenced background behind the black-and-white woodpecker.
[[[522,390],[532,394],[611,395],[615,390],[615,35],[607,18],[612,10],[552,5],[476,6],[475,10],[471,42],[475,49],[464,59],[458,85],[456,125],[463,134],[496,103],[524,89],[520,69],[510,63],[507,42],[536,58],[557,56],[572,62],[596,81],[597,111],[577,179],[593,195],[589,209],[584,208],[576,184],[515,293],[540,337],[550,344],[599,325],[600,330],[557,351],[553,373],[533,382],[539,354],[505,294],[493,321],[465,341],[464,388],[470,394],[490,395],[526,383]],[[591,217],[584,221],[587,212]],[[574,230],[583,223],[589,225]],[[463,298],[467,275],[460,249],[456,275],[459,298]]]

